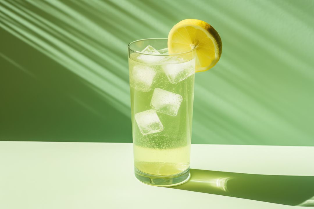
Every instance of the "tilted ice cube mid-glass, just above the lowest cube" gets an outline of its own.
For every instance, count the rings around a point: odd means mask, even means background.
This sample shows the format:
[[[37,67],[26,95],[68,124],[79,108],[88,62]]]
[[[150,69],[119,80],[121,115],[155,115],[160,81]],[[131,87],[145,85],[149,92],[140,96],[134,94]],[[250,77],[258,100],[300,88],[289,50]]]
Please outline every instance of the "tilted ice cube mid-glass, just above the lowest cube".
[[[176,116],[182,102],[182,96],[164,89],[155,88],[150,107],[158,112]]]

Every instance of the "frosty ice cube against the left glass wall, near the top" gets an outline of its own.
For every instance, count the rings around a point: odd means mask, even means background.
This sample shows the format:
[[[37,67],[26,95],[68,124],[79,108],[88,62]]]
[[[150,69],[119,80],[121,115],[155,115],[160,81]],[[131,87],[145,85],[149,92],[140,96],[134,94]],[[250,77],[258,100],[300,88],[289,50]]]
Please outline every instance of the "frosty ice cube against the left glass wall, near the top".
[[[138,91],[149,92],[156,72],[145,65],[135,65],[132,70],[130,85]]]

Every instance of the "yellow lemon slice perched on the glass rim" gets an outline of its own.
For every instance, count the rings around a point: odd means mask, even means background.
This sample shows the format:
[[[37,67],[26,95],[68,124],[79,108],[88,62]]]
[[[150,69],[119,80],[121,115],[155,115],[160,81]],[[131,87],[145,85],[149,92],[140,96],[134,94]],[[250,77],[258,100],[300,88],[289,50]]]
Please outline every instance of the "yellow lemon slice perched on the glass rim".
[[[169,54],[189,51],[196,47],[196,72],[207,71],[218,62],[222,43],[217,31],[208,23],[185,19],[177,23],[168,35]]]

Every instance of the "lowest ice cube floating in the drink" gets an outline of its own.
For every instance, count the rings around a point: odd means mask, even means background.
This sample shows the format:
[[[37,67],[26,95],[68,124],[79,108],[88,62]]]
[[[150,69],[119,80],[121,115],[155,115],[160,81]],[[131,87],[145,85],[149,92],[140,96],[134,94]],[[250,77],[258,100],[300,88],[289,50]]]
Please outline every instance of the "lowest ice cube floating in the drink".
[[[135,120],[143,135],[158,133],[164,130],[160,119],[154,110],[146,110],[135,114]]]

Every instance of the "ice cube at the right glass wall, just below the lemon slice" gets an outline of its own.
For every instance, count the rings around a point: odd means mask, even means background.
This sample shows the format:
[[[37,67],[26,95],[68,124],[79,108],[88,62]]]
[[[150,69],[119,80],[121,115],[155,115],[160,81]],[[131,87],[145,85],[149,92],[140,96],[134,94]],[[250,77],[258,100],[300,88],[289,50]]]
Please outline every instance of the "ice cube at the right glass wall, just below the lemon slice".
[[[195,58],[184,62],[182,57],[174,56],[162,68],[170,83],[177,83],[195,73]]]

